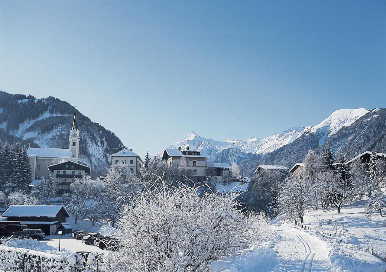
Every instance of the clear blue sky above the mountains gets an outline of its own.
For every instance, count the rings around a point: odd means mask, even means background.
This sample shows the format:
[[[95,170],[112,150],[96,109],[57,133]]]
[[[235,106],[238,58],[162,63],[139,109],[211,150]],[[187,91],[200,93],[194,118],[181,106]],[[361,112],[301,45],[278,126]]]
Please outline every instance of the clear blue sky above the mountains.
[[[1,1],[0,89],[55,96],[144,155],[386,105],[385,1]]]

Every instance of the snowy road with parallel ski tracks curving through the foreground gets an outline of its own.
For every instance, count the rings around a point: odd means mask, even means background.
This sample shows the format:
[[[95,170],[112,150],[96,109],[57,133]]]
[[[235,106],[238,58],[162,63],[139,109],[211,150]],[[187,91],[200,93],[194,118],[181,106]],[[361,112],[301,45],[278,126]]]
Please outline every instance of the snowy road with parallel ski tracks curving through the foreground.
[[[301,232],[288,227],[271,226],[278,234],[273,250],[276,266],[273,271],[330,271],[328,250],[321,243],[311,241]]]

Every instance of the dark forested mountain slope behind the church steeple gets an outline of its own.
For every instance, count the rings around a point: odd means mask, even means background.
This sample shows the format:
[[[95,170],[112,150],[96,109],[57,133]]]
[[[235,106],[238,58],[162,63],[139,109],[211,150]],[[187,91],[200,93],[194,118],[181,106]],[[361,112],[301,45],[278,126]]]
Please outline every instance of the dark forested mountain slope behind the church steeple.
[[[36,99],[0,91],[0,140],[20,141],[32,147],[68,148],[74,112],[69,103],[52,96]],[[81,113],[77,117],[81,133],[80,162],[91,166],[95,178],[108,171],[109,155],[122,148],[122,142]]]

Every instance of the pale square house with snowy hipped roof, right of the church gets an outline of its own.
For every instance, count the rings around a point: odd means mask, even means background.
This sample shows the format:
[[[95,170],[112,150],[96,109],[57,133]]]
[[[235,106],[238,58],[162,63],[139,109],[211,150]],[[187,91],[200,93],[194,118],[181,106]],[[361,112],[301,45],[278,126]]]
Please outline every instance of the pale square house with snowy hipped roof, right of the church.
[[[132,149],[123,149],[119,152],[110,155],[111,165],[125,164],[127,172],[131,172],[139,176],[143,167],[143,160],[138,154],[135,154]]]

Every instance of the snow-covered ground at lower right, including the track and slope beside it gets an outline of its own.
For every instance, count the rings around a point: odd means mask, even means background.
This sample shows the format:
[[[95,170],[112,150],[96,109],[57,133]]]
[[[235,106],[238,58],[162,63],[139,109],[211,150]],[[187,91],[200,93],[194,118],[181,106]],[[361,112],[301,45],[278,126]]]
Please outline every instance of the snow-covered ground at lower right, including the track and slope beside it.
[[[308,213],[303,228],[276,218],[269,242],[215,262],[212,271],[384,272],[386,263],[369,253],[368,245],[386,251],[386,218],[366,215],[366,201],[345,205],[340,215],[334,208]]]

